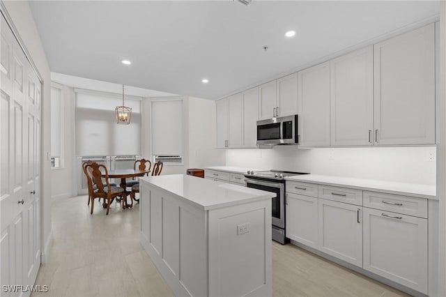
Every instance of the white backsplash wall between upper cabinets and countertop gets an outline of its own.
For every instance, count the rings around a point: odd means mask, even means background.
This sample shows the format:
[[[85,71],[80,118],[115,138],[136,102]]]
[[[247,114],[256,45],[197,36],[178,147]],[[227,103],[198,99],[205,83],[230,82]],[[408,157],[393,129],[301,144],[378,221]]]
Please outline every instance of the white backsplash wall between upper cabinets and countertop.
[[[226,165],[435,185],[435,146],[227,150]]]

